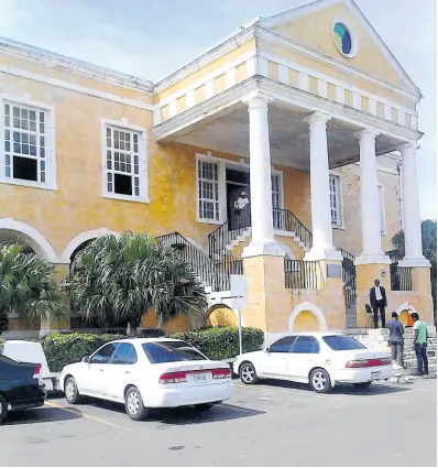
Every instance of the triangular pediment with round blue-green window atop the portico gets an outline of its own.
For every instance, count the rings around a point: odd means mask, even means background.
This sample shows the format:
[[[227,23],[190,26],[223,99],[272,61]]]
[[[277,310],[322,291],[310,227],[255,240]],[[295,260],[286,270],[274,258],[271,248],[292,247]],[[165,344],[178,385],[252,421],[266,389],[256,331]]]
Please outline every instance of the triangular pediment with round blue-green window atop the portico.
[[[419,95],[418,88],[353,0],[317,0],[262,19],[259,24]]]

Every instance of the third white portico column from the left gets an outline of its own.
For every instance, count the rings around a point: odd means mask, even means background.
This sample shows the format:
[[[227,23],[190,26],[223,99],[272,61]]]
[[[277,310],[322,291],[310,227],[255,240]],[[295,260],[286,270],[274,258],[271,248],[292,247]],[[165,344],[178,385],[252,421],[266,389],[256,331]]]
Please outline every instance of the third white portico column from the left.
[[[390,263],[382,251],[377,162],[375,157],[375,129],[355,133],[360,145],[360,187],[362,215],[362,253],[357,264]]]

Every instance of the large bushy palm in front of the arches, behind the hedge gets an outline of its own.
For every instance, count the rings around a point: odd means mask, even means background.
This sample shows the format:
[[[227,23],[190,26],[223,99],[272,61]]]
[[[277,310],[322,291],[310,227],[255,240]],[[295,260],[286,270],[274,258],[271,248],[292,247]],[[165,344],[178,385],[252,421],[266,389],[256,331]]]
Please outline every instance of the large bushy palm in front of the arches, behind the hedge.
[[[147,235],[103,236],[75,259],[67,281],[72,304],[107,327],[136,328],[154,308],[158,326],[176,315],[206,307],[204,286],[190,265]]]

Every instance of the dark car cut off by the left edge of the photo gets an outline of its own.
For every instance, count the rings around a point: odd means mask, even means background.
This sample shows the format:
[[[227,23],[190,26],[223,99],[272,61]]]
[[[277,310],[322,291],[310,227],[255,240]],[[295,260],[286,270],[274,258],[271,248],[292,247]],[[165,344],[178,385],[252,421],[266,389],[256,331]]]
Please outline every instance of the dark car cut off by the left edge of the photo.
[[[9,411],[44,405],[42,366],[0,355],[0,424]]]

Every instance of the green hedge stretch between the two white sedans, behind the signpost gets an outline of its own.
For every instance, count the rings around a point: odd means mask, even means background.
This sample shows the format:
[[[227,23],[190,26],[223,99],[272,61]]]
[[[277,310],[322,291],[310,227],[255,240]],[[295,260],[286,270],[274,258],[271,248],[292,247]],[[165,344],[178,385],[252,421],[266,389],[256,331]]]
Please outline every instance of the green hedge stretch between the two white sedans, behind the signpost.
[[[229,359],[239,355],[239,328],[213,327],[173,334],[200,349],[210,359]],[[242,327],[243,352],[256,351],[263,345],[264,333],[259,328]]]

